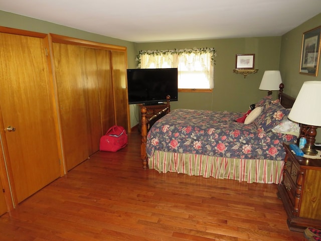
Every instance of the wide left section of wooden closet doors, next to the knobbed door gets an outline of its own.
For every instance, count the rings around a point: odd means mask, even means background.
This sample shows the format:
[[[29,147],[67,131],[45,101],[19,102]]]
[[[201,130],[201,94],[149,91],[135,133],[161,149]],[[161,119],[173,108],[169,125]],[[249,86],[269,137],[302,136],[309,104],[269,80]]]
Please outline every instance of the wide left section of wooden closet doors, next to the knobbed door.
[[[67,170],[99,150],[102,135],[95,49],[53,43]]]

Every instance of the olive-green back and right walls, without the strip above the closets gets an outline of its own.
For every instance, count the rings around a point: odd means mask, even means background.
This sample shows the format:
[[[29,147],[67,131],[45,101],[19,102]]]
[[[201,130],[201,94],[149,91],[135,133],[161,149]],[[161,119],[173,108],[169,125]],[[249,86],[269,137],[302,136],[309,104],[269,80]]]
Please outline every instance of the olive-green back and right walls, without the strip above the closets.
[[[265,70],[280,70],[284,93],[296,97],[303,82],[321,80],[318,76],[299,74],[302,34],[320,26],[321,14],[307,20],[281,37],[212,39],[200,41],[173,41],[159,43],[137,43],[136,50],[164,50],[214,47],[217,50],[214,70],[213,93],[179,93],[179,101],[172,102],[175,108],[197,108],[210,110],[241,111],[247,110],[249,104],[255,103],[265,91],[258,89]],[[235,67],[236,54],[255,54],[255,68],[258,73],[242,75],[232,72]],[[277,91],[273,91],[276,98]],[[311,103],[320,111],[321,103]],[[321,128],[318,129],[316,141],[321,142]]]

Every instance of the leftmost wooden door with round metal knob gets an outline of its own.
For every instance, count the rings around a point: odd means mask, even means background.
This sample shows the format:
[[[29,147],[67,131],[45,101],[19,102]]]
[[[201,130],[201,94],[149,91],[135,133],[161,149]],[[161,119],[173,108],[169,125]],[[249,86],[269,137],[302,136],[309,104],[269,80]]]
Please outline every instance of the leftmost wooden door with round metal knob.
[[[55,111],[44,39],[0,33],[0,46],[0,126],[19,203],[60,176]]]

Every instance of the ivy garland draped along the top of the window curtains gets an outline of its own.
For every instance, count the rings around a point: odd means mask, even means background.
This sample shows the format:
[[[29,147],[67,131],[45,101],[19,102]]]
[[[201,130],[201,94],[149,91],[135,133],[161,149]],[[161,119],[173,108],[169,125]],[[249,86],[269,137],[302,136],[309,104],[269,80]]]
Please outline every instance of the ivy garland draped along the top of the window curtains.
[[[171,54],[191,54],[191,53],[211,53],[211,63],[215,64],[216,50],[215,48],[193,48],[193,49],[174,49],[174,50],[140,50],[136,56],[137,68],[140,68],[141,55],[171,55]]]

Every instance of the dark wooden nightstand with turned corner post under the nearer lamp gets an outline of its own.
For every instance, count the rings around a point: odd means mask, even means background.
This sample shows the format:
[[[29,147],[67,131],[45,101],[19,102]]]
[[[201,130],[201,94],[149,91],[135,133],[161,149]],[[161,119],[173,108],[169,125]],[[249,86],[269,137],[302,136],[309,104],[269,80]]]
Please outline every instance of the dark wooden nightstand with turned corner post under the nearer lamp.
[[[283,180],[278,185],[290,230],[321,228],[321,159],[298,157],[283,143]]]

